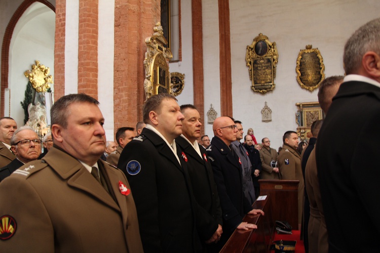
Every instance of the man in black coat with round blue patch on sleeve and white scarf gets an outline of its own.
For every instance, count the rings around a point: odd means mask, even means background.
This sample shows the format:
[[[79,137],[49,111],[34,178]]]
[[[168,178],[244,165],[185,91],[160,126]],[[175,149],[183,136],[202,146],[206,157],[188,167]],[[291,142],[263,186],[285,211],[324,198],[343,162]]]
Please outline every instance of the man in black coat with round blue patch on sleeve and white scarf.
[[[143,107],[146,127],[119,159],[135,200],[145,252],[198,252],[201,240],[211,239],[218,227],[208,224],[211,216],[194,200],[187,156],[174,140],[182,134],[183,118],[172,95],[150,97]]]

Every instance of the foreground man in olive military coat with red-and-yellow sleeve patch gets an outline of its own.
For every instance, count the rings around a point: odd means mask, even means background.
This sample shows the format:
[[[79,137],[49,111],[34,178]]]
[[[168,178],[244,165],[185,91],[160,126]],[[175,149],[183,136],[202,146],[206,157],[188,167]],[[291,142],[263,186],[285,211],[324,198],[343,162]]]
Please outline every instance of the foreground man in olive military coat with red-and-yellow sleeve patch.
[[[98,104],[85,94],[57,100],[54,146],[0,183],[2,252],[143,252],[128,181],[99,159]]]

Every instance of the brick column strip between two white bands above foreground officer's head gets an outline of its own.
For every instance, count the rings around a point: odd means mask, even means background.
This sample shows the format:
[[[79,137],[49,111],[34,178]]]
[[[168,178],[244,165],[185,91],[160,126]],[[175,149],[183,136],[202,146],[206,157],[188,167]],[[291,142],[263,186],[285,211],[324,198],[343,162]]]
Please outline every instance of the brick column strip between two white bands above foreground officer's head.
[[[79,1],[78,93],[98,98],[98,1]]]

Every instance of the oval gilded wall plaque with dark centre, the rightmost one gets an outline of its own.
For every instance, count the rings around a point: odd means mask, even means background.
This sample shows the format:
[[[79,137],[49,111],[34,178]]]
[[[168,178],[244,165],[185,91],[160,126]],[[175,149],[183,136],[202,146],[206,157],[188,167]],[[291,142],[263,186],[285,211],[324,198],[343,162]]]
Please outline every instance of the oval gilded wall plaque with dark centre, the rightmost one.
[[[309,91],[317,89],[325,78],[325,65],[321,52],[312,47],[312,45],[307,45],[306,49],[299,51],[295,68],[297,82],[303,89]]]

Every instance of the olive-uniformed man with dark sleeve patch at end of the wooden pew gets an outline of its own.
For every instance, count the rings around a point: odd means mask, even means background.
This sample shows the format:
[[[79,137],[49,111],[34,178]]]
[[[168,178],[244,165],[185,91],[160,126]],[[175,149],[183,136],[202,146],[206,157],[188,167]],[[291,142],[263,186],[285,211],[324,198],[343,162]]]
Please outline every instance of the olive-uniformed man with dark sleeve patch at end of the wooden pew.
[[[297,151],[298,135],[294,131],[287,131],[282,137],[282,141],[284,144],[278,156],[280,179],[299,180],[298,224],[301,224],[304,183],[301,168],[301,156]]]

